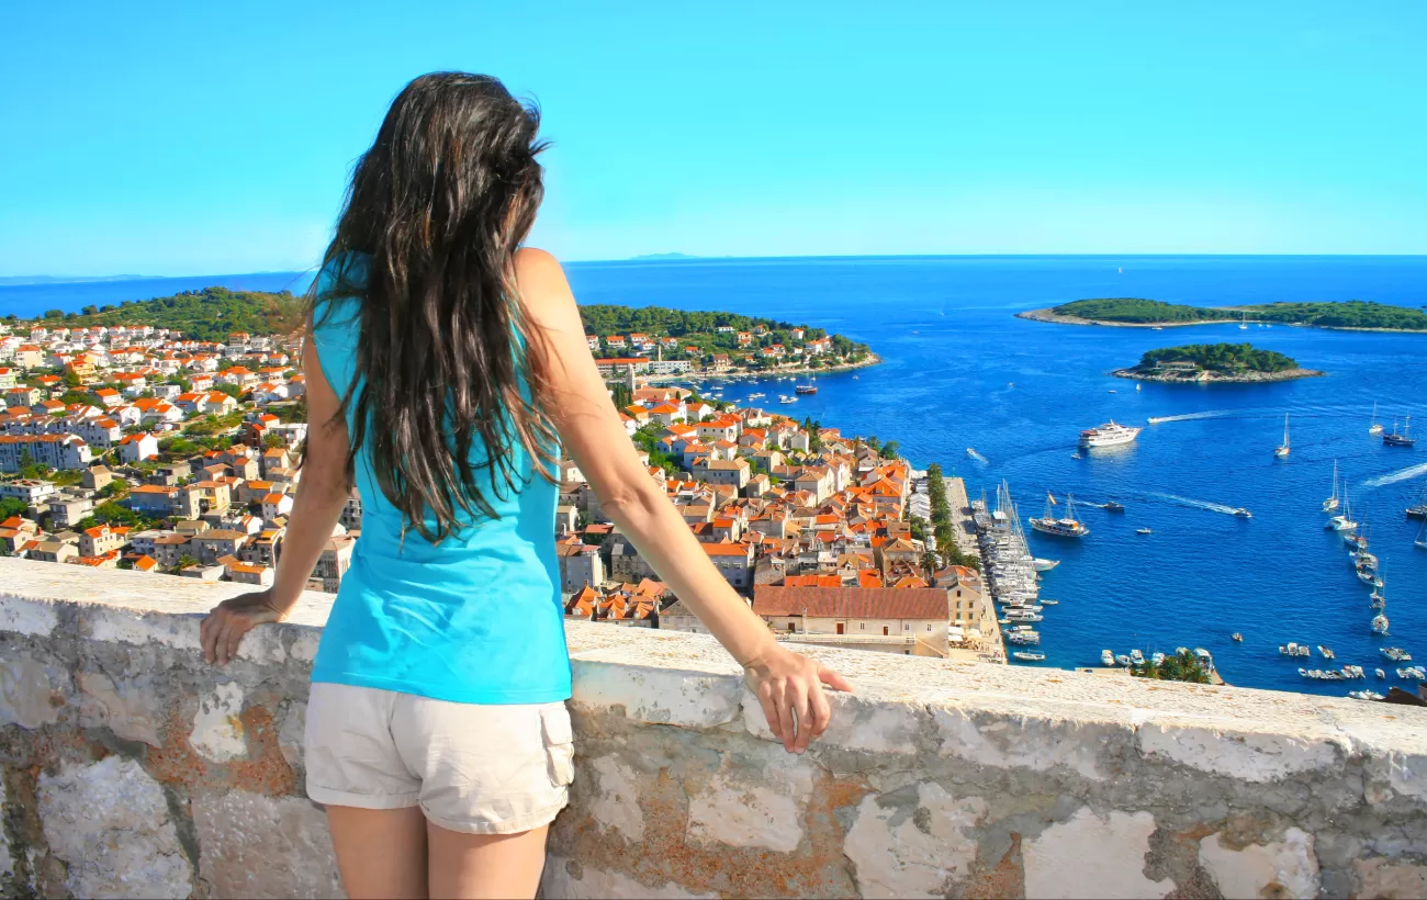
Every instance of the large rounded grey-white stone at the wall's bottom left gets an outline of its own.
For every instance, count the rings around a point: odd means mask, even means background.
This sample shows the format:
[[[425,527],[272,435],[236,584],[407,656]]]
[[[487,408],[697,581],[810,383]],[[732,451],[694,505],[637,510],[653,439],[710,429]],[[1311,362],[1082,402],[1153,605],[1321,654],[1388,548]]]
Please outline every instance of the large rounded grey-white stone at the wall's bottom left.
[[[187,897],[193,870],[158,782],[107,756],[41,774],[40,823],[76,897]]]

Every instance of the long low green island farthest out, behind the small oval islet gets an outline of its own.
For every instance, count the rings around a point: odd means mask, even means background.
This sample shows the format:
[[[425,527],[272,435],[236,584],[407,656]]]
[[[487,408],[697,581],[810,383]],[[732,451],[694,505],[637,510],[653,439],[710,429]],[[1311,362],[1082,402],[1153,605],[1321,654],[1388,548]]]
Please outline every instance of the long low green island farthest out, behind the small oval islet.
[[[1066,325],[1163,327],[1247,321],[1354,331],[1427,331],[1427,312],[1421,310],[1363,300],[1190,307],[1142,297],[1099,297],[1076,300],[1049,310],[1029,310],[1016,315]]]

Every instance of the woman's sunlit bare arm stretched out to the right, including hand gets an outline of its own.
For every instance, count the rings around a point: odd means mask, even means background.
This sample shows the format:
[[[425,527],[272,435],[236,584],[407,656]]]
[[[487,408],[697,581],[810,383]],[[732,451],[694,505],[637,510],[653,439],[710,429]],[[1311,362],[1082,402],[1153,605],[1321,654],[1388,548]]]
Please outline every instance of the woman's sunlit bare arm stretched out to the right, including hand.
[[[745,668],[768,725],[783,746],[803,750],[809,737],[828,725],[822,685],[850,687],[838,673],[778,645],[645,471],[595,368],[559,262],[544,251],[522,250],[517,275],[527,315],[549,348],[552,414],[569,455],[621,533]],[[799,727],[795,716],[806,727]]]

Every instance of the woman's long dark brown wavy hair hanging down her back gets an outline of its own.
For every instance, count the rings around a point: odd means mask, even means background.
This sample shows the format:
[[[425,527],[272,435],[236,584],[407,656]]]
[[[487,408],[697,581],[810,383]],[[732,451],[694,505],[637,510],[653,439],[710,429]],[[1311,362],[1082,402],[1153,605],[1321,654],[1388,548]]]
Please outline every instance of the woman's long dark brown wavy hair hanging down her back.
[[[361,301],[338,412],[354,414],[348,474],[370,446],[382,494],[431,542],[497,515],[488,491],[529,478],[521,449],[541,476],[554,464],[548,354],[515,287],[544,197],[538,130],[539,111],[497,78],[414,80],[352,171],[323,260],[331,287],[310,294],[314,324],[327,298]]]

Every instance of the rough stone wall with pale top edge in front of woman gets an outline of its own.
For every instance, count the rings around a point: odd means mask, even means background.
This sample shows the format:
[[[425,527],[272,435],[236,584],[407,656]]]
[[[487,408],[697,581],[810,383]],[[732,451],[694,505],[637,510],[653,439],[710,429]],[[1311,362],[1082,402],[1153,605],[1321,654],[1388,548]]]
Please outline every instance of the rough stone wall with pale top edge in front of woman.
[[[331,598],[224,670],[234,585],[0,561],[4,893],[334,896],[301,793]],[[1427,710],[809,648],[803,756],[708,638],[572,623],[547,897],[1421,897]]]

